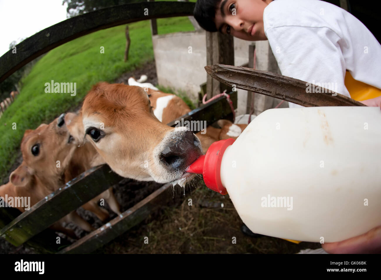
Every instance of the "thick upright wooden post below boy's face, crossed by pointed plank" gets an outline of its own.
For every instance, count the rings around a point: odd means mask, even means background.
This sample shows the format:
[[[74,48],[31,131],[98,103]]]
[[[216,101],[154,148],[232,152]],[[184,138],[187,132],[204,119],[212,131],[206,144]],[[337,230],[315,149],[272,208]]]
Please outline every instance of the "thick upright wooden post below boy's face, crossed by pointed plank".
[[[234,40],[233,37],[219,32],[206,32],[207,40],[207,65],[215,63],[234,65]],[[207,75],[207,99],[232,88],[220,83]]]

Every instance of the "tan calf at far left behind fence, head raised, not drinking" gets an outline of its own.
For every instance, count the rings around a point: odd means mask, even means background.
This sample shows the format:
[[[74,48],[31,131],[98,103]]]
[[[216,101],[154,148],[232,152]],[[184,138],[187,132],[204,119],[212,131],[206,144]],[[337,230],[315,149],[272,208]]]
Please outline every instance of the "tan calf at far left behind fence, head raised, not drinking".
[[[21,141],[23,161],[11,173],[10,181],[0,187],[0,196],[30,197],[29,206],[35,205],[62,186],[64,170],[76,147],[62,115],[49,125],[42,124],[35,130],[26,130]],[[25,207],[15,206],[21,212],[25,211]],[[76,238],[72,230],[63,227],[63,222],[73,222],[88,232],[94,230],[75,211],[54,223],[51,228]]]

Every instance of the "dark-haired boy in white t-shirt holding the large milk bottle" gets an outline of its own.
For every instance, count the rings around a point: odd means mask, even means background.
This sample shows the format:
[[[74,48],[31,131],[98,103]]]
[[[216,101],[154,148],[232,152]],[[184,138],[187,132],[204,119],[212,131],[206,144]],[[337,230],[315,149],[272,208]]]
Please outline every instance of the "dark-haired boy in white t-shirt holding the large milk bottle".
[[[319,0],[197,0],[194,17],[210,32],[269,40],[282,75],[333,85],[328,90],[380,106],[381,45],[362,22],[338,6]],[[323,244],[323,249],[380,253],[381,226]]]

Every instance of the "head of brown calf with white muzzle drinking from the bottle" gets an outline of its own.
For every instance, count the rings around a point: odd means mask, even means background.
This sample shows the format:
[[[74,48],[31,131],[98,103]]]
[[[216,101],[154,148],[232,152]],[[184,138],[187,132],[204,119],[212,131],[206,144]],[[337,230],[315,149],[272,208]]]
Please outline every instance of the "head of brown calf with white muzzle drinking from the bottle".
[[[154,115],[147,92],[139,86],[93,86],[70,133],[90,142],[120,176],[139,181],[185,183],[186,168],[202,154],[197,136],[172,128]]]

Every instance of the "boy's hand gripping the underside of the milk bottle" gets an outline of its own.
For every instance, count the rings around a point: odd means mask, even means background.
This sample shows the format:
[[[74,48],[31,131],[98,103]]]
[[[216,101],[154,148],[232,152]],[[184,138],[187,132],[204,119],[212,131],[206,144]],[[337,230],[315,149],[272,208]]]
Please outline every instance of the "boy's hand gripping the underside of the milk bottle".
[[[341,242],[324,243],[322,248],[330,254],[381,253],[381,226]]]

